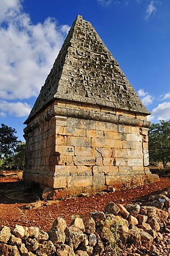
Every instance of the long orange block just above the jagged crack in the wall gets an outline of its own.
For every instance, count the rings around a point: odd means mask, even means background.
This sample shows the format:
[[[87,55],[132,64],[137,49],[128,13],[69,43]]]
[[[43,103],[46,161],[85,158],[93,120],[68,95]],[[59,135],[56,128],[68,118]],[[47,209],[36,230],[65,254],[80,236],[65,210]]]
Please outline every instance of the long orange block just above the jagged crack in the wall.
[[[122,141],[104,138],[92,138],[91,147],[122,148]]]

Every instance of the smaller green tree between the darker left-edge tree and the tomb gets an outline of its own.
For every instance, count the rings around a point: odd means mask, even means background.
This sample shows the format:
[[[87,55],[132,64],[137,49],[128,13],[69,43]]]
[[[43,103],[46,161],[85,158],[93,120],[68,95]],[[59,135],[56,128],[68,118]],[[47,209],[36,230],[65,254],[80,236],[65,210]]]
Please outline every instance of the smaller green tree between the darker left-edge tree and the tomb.
[[[23,170],[25,165],[25,142],[19,142],[14,151],[13,165],[16,169]]]

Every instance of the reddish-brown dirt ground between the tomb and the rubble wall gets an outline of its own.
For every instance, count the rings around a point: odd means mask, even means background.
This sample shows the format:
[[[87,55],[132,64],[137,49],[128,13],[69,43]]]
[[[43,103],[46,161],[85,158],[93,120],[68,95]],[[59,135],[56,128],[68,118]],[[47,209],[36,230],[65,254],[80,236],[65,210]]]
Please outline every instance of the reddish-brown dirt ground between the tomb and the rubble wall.
[[[115,203],[148,203],[151,194],[160,193],[170,187],[170,177],[160,178],[160,181],[140,186],[138,188],[117,190],[114,193],[100,193],[88,197],[75,197],[63,201],[39,201],[35,188],[29,190],[23,187],[16,177],[0,178],[0,227],[11,228],[15,224],[23,226],[38,226],[44,231],[52,227],[57,217],[62,217],[67,224],[75,215],[82,218],[89,212],[103,211],[108,202]]]

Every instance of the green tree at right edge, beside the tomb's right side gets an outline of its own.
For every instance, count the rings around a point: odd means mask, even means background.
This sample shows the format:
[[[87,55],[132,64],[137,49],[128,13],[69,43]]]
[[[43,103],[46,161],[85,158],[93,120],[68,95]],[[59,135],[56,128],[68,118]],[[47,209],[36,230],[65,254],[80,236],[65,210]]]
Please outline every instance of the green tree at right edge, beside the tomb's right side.
[[[151,124],[148,135],[150,164],[162,162],[165,168],[170,161],[170,119]]]

